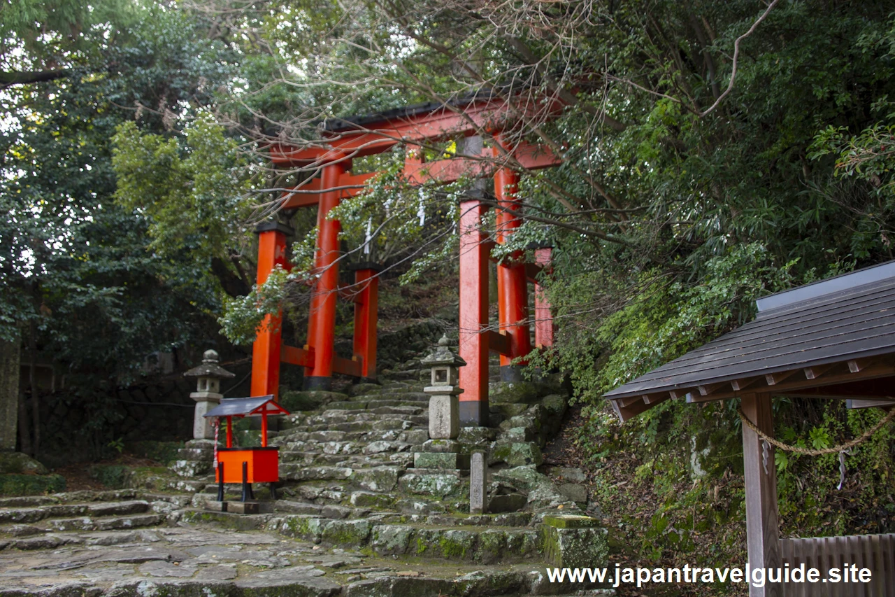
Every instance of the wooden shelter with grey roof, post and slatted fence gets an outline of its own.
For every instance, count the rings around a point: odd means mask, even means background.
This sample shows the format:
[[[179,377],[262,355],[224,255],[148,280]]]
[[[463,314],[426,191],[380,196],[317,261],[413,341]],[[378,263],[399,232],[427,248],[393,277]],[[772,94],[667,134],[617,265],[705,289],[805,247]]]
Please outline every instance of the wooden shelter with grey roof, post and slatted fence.
[[[738,398],[745,417],[773,437],[773,396],[845,400],[848,408],[895,407],[895,261],[779,292],[758,299],[756,307],[752,322],[604,394],[618,418],[630,420],[668,400]],[[743,452],[752,567],[805,562],[808,556],[792,551],[794,541],[805,541],[812,561],[851,558],[879,573],[874,588],[853,585],[843,592],[841,585],[816,584],[797,587],[805,591],[798,593],[766,584],[750,586],[750,596],[895,595],[895,536],[780,541],[773,447],[744,424]],[[829,593],[833,589],[839,593]]]

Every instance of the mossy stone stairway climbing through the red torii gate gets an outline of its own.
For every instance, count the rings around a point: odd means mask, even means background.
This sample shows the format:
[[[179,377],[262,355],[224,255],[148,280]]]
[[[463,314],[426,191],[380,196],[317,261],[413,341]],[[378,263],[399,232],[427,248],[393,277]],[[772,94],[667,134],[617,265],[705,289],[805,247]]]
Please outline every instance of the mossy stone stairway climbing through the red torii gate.
[[[414,467],[414,452],[429,438],[429,395],[422,393],[422,383],[404,381],[355,386],[353,397],[328,393],[324,398],[331,402],[288,417],[271,440],[280,447],[280,499],[269,502],[266,513],[210,511],[217,486],[209,484],[193,497],[194,508],[183,521],[277,532],[381,558],[542,562],[545,520],[583,515],[537,471],[540,447],[556,432],[566,401],[557,394],[538,399],[527,386],[515,394],[507,385],[495,389],[499,401],[513,394],[527,402],[493,404],[499,428],[464,428],[458,438],[467,453],[489,453],[489,514],[469,514],[467,471],[422,468],[419,460]],[[266,495],[264,489],[256,494]],[[588,555],[605,558],[601,530],[582,532],[596,540]]]

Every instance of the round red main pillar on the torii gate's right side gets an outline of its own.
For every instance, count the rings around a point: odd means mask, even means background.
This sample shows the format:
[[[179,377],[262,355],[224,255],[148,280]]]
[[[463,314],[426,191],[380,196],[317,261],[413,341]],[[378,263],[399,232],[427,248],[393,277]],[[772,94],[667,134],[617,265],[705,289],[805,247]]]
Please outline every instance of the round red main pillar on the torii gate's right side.
[[[498,136],[497,141],[501,143]],[[503,144],[503,143],[502,143]],[[506,144],[505,144],[506,147]],[[522,225],[518,211],[522,204],[518,200],[519,176],[512,169],[499,168],[494,173],[494,195],[499,209],[497,219],[497,242],[506,243],[513,232]],[[525,279],[525,265],[522,252],[498,264],[498,310],[500,333],[509,337],[508,355],[500,355],[500,379],[509,382],[522,381],[520,364],[513,360],[524,357],[532,351],[532,341],[528,326],[528,283]]]

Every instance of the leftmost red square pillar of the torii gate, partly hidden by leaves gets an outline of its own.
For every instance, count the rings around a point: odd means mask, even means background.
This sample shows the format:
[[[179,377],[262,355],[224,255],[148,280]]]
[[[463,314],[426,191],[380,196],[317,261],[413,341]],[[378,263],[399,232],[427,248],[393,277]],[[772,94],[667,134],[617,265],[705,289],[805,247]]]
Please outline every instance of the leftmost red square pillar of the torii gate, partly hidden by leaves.
[[[255,229],[258,233],[258,276],[256,283],[263,284],[277,265],[284,269],[286,260],[286,235],[292,229],[276,221],[262,222]],[[251,395],[279,396],[279,364],[281,348],[280,315],[265,316],[255,342],[251,347]]]

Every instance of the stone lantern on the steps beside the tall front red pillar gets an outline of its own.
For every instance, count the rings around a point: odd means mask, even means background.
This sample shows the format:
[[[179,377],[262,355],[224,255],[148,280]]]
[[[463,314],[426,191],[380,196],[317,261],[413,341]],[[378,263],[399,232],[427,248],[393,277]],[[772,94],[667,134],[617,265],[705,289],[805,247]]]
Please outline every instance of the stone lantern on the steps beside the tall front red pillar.
[[[466,361],[447,349],[447,334],[439,340],[439,347],[430,356],[422,359],[423,365],[432,368],[431,385],[422,391],[430,394],[429,437],[430,439],[456,439],[460,434],[459,396],[463,389],[457,385],[460,368]]]

